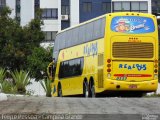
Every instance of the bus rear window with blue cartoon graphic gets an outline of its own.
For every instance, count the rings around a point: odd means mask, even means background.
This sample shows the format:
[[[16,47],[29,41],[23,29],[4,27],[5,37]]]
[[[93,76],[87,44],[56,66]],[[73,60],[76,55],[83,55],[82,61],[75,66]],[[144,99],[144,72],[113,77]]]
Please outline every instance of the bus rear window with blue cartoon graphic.
[[[142,34],[155,31],[151,18],[139,16],[117,16],[112,19],[111,30],[120,33]]]

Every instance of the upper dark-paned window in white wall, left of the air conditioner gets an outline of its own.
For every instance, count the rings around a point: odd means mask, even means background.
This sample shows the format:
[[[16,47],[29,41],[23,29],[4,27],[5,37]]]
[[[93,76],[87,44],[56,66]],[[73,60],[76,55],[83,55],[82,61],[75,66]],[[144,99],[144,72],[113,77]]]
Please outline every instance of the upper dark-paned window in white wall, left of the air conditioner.
[[[42,19],[58,19],[58,9],[43,9]]]

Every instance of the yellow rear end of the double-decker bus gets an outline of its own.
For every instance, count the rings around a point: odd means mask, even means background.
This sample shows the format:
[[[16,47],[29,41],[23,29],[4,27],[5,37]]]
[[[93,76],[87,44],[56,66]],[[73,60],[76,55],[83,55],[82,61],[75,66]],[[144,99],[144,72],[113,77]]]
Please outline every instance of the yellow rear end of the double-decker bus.
[[[110,26],[105,31],[105,90],[141,93],[156,91],[156,17],[144,13],[112,13],[107,16],[106,22]]]

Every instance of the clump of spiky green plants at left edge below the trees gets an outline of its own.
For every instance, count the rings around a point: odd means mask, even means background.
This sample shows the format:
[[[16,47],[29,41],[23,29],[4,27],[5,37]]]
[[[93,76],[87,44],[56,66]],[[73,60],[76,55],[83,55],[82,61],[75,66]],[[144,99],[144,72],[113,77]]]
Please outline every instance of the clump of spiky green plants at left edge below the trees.
[[[5,79],[5,69],[0,68],[0,91],[11,94],[26,94],[26,86],[30,83],[29,72],[20,70],[9,73],[11,77]]]

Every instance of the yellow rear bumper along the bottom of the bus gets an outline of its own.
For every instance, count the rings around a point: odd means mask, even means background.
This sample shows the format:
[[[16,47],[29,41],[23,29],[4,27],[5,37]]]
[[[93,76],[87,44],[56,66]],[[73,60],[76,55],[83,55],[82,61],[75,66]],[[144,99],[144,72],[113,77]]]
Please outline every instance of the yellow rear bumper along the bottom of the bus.
[[[133,87],[132,87],[133,86]],[[153,92],[158,88],[158,79],[142,82],[125,82],[106,79],[104,87],[107,91],[144,91]]]

